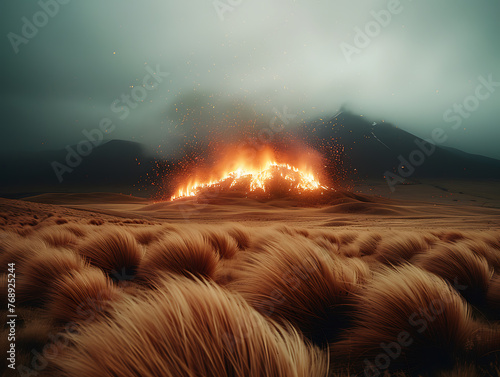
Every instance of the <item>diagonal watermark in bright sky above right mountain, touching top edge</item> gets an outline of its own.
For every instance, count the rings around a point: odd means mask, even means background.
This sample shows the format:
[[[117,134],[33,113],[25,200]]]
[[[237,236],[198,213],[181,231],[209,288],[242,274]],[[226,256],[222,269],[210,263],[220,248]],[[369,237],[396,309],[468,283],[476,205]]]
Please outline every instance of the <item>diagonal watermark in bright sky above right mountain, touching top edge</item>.
[[[408,1],[411,2],[413,0]],[[363,28],[354,28],[353,43],[342,42],[340,44],[340,49],[347,62],[350,63],[353,55],[361,54],[365,48],[370,46],[373,39],[377,38],[383,29],[391,24],[393,16],[400,14],[403,10],[404,6],[400,0],[389,0],[387,9],[382,9],[378,12],[374,10],[370,11],[373,20],[368,21]]]

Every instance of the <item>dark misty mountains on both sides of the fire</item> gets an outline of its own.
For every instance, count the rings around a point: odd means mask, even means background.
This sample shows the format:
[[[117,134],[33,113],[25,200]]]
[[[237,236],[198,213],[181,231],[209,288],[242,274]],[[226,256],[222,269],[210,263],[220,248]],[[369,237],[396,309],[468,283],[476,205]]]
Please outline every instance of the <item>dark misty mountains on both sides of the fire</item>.
[[[322,154],[333,181],[388,176],[397,182],[500,179],[500,160],[432,145],[392,124],[348,111],[304,123],[291,135]],[[162,187],[172,189],[169,177],[180,169],[179,161],[157,159],[136,142],[107,141],[81,160],[74,155],[77,147],[2,156],[0,196],[97,190],[148,195]]]

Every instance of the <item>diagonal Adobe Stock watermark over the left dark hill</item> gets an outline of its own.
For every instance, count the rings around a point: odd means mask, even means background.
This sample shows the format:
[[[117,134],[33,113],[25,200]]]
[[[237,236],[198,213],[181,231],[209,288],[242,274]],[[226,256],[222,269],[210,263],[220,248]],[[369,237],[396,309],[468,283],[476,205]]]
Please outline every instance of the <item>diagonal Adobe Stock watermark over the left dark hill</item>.
[[[129,93],[123,93],[120,98],[115,99],[110,110],[115,114],[119,114],[120,120],[125,120],[130,115],[133,109],[136,109],[140,103],[144,102],[149,93],[158,89],[158,84],[161,84],[165,78],[170,76],[168,72],[162,72],[160,65],[156,65],[156,70],[150,66],[146,66],[146,74],[142,79],[142,85],[134,86]],[[84,138],[73,148],[70,145],[66,146],[65,163],[53,161],[52,169],[56,174],[59,183],[64,180],[63,176],[66,173],[71,173],[83,161],[84,157],[89,156],[92,150],[98,147],[104,140],[104,135],[109,135],[116,129],[116,124],[111,118],[105,117],[99,121],[99,126],[91,130],[83,130]]]

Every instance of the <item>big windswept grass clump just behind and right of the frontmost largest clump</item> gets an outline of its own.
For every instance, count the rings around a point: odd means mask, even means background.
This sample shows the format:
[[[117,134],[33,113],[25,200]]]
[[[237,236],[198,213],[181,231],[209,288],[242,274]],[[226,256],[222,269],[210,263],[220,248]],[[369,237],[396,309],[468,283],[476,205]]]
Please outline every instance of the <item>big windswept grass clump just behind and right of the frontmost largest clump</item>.
[[[308,239],[281,236],[268,241],[266,253],[249,252],[231,288],[259,312],[289,321],[321,344],[346,325],[350,296],[368,271],[355,267]]]

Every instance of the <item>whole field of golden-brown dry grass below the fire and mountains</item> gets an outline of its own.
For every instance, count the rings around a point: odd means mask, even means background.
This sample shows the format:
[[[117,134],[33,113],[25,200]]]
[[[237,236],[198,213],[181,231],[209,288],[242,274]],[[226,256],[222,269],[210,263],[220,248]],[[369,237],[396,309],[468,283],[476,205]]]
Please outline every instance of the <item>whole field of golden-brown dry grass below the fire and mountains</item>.
[[[0,199],[5,376],[500,376],[496,208],[49,199]]]

